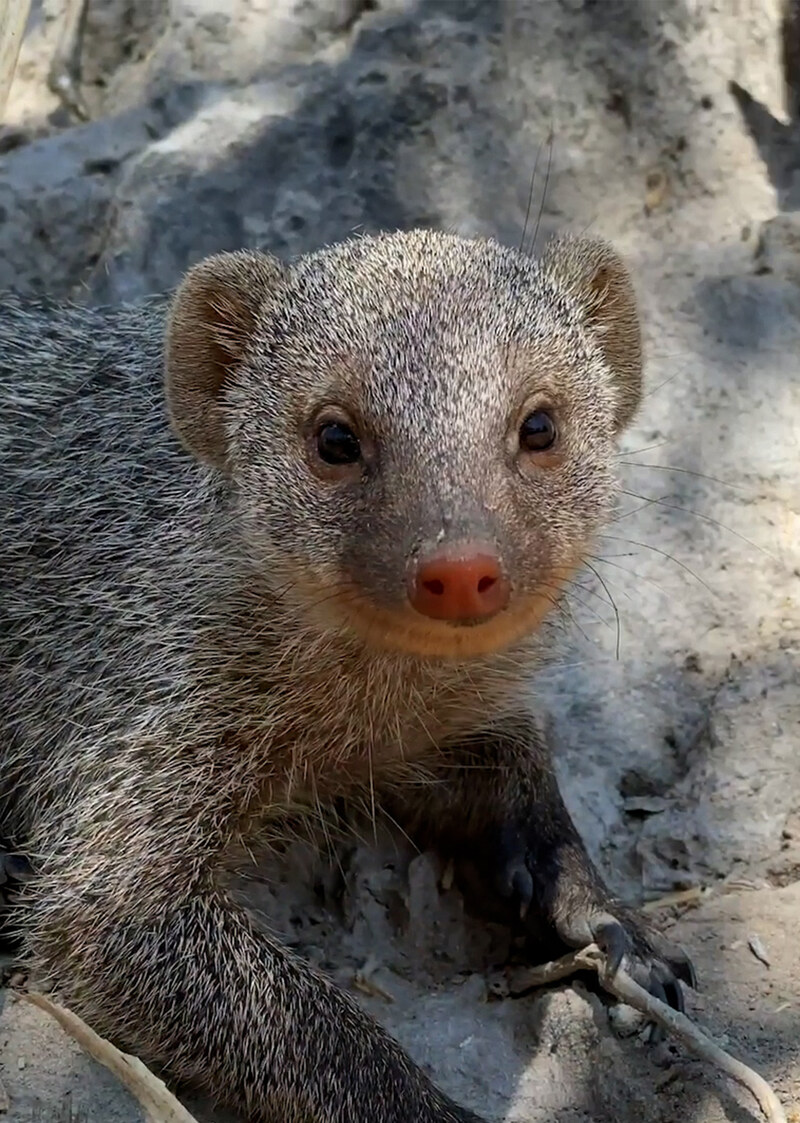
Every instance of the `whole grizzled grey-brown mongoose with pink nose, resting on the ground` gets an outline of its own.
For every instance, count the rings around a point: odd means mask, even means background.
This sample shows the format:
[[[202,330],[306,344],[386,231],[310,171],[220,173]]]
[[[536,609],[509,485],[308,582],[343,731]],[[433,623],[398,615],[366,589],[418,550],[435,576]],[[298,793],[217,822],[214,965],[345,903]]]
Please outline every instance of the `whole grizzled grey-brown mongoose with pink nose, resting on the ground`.
[[[400,232],[1,307],[0,833],[64,999],[251,1121],[476,1123],[222,884],[369,795],[473,909],[680,1006],[522,702],[640,396],[613,250]]]

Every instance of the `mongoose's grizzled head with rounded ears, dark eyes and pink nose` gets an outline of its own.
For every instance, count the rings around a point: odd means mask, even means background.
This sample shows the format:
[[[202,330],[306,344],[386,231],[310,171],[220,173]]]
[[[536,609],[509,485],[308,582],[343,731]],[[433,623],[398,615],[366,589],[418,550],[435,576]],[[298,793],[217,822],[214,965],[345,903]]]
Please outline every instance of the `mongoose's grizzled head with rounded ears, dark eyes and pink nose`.
[[[321,629],[464,658],[534,632],[616,495],[640,398],[628,273],[431,231],[197,265],[166,340],[175,432],[247,564]]]

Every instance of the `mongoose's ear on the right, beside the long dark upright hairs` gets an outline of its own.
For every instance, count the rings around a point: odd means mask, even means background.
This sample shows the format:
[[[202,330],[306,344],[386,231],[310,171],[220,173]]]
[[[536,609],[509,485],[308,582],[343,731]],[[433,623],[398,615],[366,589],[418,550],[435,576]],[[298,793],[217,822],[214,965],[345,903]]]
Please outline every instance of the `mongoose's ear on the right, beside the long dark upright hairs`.
[[[569,235],[551,241],[542,264],[585,309],[587,326],[615,376],[620,432],[642,400],[642,328],[630,274],[604,241]]]

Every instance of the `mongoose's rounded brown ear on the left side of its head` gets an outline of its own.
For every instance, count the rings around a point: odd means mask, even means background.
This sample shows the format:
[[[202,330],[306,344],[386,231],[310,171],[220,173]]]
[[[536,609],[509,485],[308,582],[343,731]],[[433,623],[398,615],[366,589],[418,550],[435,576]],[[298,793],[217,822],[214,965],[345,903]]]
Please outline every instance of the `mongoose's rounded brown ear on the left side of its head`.
[[[227,462],[222,391],[284,276],[265,254],[217,254],[191,268],[173,296],[165,348],[170,420],[189,451],[212,467],[225,469]]]

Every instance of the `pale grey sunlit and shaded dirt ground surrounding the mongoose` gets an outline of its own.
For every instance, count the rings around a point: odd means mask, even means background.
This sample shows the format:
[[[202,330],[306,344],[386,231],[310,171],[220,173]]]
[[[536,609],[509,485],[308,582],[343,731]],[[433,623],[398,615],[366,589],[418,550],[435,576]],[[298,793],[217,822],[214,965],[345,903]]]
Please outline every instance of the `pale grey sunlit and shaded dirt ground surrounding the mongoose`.
[[[354,229],[518,244],[537,154],[538,244],[590,227],[630,259],[648,394],[619,517],[531,692],[593,856],[633,901],[692,891],[657,913],[698,966],[691,1010],[797,1121],[800,124],[781,4],[90,0],[83,125],[45,85],[62,8],[35,6],[0,130],[0,287],[136,298],[213,250]],[[298,853],[242,892],[487,1119],[757,1119],[581,984],[490,1001],[503,941],[428,856],[381,840],[318,874]],[[0,1079],[9,1123],[139,1119],[8,992]]]

